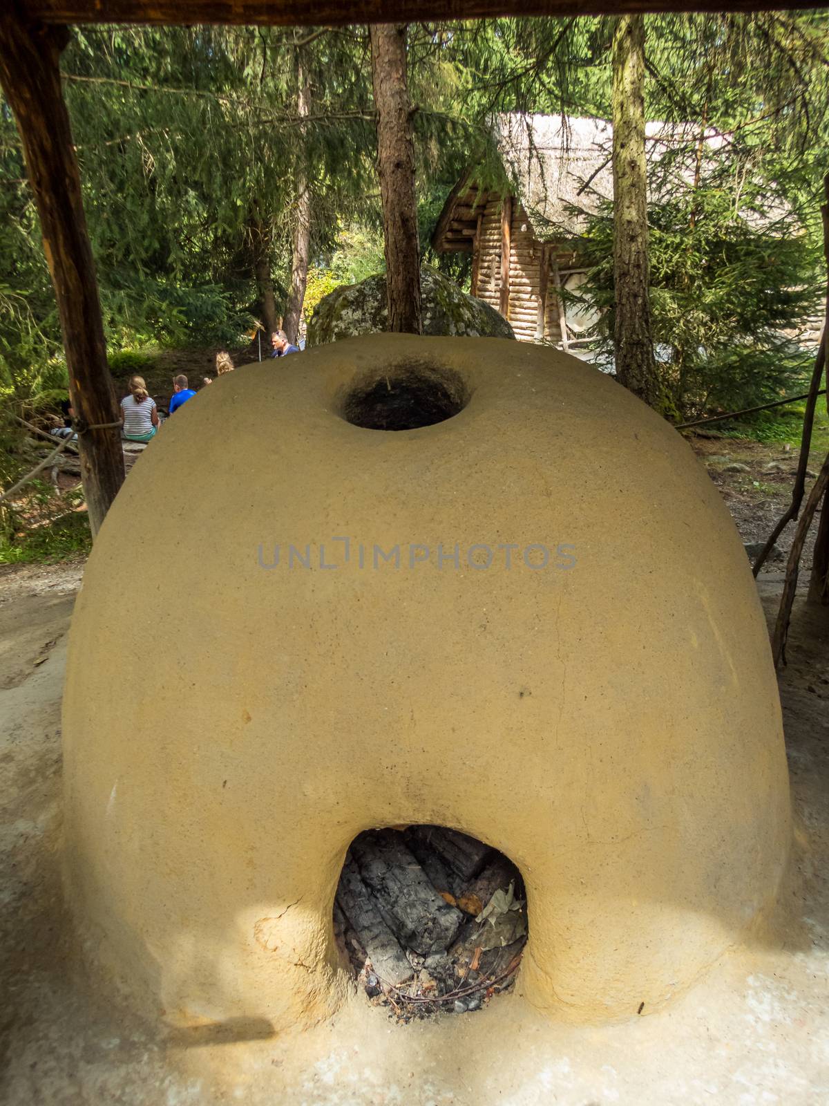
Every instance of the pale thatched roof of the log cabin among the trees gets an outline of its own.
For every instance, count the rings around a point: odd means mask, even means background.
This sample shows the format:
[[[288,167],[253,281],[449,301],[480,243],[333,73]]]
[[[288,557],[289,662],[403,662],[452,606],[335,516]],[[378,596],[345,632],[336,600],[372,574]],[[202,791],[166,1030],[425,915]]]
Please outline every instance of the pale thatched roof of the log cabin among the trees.
[[[602,200],[612,200],[613,128],[607,121],[505,114],[496,119],[495,137],[507,177],[539,241],[578,237],[585,230],[585,216],[595,215]],[[651,188],[668,194],[678,186],[689,187],[694,179],[699,125],[648,123],[646,137],[648,159],[665,164],[665,174]],[[718,132],[706,131],[705,160],[711,161],[727,142]]]

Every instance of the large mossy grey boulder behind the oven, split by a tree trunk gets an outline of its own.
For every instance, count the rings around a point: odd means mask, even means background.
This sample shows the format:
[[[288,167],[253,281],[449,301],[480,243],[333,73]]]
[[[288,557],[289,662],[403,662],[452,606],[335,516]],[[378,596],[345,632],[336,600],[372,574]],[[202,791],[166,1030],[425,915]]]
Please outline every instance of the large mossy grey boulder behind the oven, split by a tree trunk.
[[[434,269],[420,271],[423,302],[423,334],[470,338],[514,338],[503,315],[483,300],[462,292]],[[386,274],[368,276],[359,284],[344,284],[317,304],[308,323],[307,344],[325,345],[360,334],[388,331]]]

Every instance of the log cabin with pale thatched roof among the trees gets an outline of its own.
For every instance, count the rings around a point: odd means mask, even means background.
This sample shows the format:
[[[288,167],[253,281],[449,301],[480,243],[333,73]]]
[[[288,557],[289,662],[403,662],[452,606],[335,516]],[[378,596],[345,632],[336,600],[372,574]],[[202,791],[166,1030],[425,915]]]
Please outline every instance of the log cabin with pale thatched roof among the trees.
[[[503,185],[487,187],[468,170],[447,198],[432,246],[440,253],[472,254],[472,295],[500,311],[516,338],[579,353],[598,314],[567,293],[586,280],[580,243],[588,219],[612,201],[612,126],[596,118],[504,114],[494,132]],[[728,137],[699,124],[651,122],[646,136],[649,163],[660,167],[649,174],[654,200],[693,187],[703,152],[706,167],[718,152],[727,155]]]

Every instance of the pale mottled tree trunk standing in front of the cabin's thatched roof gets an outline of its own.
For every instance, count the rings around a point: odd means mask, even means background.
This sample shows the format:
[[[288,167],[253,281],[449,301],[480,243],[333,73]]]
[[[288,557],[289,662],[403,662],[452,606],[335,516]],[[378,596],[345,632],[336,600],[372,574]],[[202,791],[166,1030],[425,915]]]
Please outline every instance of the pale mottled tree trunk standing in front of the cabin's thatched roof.
[[[616,375],[654,406],[660,396],[648,285],[644,20],[620,15],[613,34],[613,285]]]

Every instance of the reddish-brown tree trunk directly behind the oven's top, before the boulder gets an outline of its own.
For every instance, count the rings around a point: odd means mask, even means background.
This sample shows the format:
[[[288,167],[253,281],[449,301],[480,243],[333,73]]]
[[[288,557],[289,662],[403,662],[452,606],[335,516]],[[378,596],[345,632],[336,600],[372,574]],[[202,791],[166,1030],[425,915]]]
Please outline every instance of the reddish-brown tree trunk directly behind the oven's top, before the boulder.
[[[370,32],[389,330],[420,334],[420,242],[406,25],[374,23]]]

